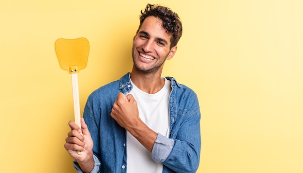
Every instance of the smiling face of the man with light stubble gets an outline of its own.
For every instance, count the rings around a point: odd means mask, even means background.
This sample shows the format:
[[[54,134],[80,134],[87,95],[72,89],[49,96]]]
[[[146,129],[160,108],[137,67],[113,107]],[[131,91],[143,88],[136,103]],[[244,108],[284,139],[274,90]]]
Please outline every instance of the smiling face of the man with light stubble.
[[[136,69],[143,73],[162,72],[166,59],[174,56],[177,46],[169,49],[171,35],[162,28],[162,20],[148,16],[134,37],[132,56]]]

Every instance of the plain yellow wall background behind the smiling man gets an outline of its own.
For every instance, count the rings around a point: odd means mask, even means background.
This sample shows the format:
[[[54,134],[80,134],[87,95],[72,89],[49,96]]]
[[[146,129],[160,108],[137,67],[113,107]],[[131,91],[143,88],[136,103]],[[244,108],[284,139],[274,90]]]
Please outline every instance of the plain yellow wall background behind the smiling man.
[[[303,173],[302,0],[0,0],[0,172],[75,172],[63,147],[71,76],[54,42],[90,41],[82,112],[93,90],[131,71],[147,2],[182,19],[163,76],[197,92],[198,173]]]

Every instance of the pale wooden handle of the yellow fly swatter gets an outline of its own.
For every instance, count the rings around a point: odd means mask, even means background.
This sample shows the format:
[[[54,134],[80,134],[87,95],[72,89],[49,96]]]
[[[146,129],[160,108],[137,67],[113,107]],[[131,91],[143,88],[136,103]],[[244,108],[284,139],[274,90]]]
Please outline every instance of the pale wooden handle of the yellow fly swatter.
[[[72,83],[73,83],[73,99],[74,99],[74,113],[75,113],[75,122],[81,129],[81,115],[80,115],[80,101],[79,101],[79,87],[78,87],[78,74],[72,73]],[[79,155],[83,151],[77,151]]]

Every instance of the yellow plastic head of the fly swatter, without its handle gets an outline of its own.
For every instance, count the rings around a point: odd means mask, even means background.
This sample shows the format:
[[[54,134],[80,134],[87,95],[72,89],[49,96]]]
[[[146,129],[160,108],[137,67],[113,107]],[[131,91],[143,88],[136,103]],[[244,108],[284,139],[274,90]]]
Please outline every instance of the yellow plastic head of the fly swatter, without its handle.
[[[55,42],[55,51],[61,68],[69,73],[77,73],[87,65],[90,43],[83,37],[58,39]]]

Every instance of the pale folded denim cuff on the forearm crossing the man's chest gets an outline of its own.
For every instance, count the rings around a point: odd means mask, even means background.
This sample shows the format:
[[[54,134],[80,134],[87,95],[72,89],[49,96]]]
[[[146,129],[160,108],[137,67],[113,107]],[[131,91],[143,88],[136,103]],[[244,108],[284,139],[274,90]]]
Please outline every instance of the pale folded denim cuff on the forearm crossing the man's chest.
[[[158,133],[157,139],[152,147],[152,159],[157,163],[164,162],[169,156],[175,142]]]

